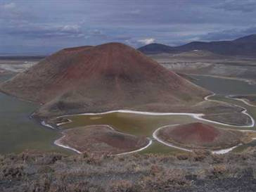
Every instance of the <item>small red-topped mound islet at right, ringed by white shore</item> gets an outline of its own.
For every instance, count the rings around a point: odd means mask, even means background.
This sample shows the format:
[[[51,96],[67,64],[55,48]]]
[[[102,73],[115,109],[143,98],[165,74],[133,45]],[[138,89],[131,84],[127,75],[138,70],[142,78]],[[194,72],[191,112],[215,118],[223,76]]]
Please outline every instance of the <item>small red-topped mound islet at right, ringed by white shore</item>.
[[[191,123],[164,127],[159,130],[158,137],[169,143],[186,148],[221,149],[236,146],[245,139],[243,132],[220,129],[209,124]]]

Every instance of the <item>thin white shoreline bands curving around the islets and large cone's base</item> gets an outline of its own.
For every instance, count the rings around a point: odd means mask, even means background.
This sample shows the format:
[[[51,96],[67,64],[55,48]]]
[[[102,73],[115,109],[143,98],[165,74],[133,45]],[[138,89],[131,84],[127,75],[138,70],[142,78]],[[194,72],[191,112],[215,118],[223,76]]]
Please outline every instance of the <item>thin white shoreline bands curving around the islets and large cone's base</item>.
[[[215,101],[215,100],[211,100],[210,99],[210,96],[215,96],[215,94],[210,94],[209,96],[205,96],[204,100],[205,101]],[[244,102],[245,103],[245,102]],[[245,103],[245,104],[248,104],[248,103]],[[234,105],[234,104],[233,104]],[[240,108],[243,108],[239,105],[236,105]],[[67,117],[67,116],[76,116],[76,115],[105,115],[105,114],[109,114],[109,113],[132,113],[132,114],[140,114],[140,115],[188,115],[190,117],[193,117],[197,120],[202,120],[202,121],[205,121],[205,122],[211,122],[211,123],[215,123],[215,124],[222,124],[224,126],[232,126],[232,127],[254,127],[255,126],[255,120],[253,119],[253,117],[251,115],[248,114],[248,111],[247,109],[243,108],[243,111],[242,113],[245,114],[245,115],[248,115],[248,117],[250,117],[250,120],[251,120],[251,124],[250,125],[232,125],[232,124],[224,124],[222,122],[216,122],[216,121],[212,121],[212,120],[207,120],[205,118],[203,118],[203,116],[205,116],[205,114],[203,113],[156,113],[156,112],[147,112],[147,111],[136,111],[136,110],[110,110],[110,111],[107,111],[107,112],[103,112],[103,113],[79,113],[79,114],[72,114],[72,115],[61,115],[59,117]],[[69,122],[72,122],[71,120],[68,120],[68,122],[65,122],[65,123],[69,123]],[[63,123],[63,124],[65,124]],[[54,129],[54,127],[52,127],[51,125],[49,124],[46,124],[44,121],[41,122],[41,124],[43,124],[44,126],[46,127],[51,127],[51,129]],[[62,124],[62,123],[60,123]],[[60,125],[60,124],[57,124]],[[168,125],[165,125],[164,127],[167,127],[167,126],[174,126],[176,124],[168,124]],[[110,127],[110,126],[109,126]],[[113,129],[113,127],[111,127]],[[153,132],[153,138],[155,140],[157,140],[158,142],[160,143],[163,143],[165,144],[166,146],[170,146],[172,148],[177,148],[177,149],[180,149],[182,151],[188,151],[188,152],[191,152],[192,150],[190,149],[187,149],[187,148],[181,148],[179,146],[174,146],[172,145],[171,143],[167,143],[165,141],[162,141],[161,139],[158,138],[158,136],[156,136],[156,133],[158,132],[159,129],[161,129],[163,127],[159,127],[158,129],[155,130],[155,132]],[[241,130],[242,131],[242,130]],[[250,131],[250,130],[244,130],[244,131]],[[60,138],[60,139],[63,139],[63,136]],[[64,146],[63,144],[61,144],[59,141],[60,139],[56,140],[54,143],[57,145],[57,146],[61,146],[63,148],[68,148],[72,151],[75,151],[77,153],[81,153],[80,151],[77,151],[75,148],[70,148],[69,146]],[[139,151],[143,151],[144,149],[148,148],[148,146],[151,146],[151,144],[153,143],[153,141],[151,139],[149,139],[149,143],[147,146],[144,146],[143,148],[140,148],[136,151],[129,151],[129,152],[125,152],[125,153],[120,153],[120,154],[117,154],[117,155],[126,155],[126,154],[129,154],[129,153],[136,153],[136,152],[139,152]],[[241,144],[239,144],[238,146],[240,146]],[[213,154],[224,154],[224,153],[228,153],[229,151],[232,151],[234,148],[238,147],[238,146],[233,146],[231,148],[226,148],[226,149],[222,149],[222,150],[218,150],[218,151],[212,151]]]

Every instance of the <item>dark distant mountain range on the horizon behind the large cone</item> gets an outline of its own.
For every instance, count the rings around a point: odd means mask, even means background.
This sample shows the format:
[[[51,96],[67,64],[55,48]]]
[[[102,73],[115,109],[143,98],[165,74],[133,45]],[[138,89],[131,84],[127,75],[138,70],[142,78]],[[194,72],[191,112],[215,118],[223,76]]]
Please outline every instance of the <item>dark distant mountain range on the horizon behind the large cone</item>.
[[[138,49],[142,53],[181,53],[185,51],[203,50],[229,56],[256,56],[256,34],[241,37],[232,41],[192,41],[181,46],[164,44],[148,44]]]

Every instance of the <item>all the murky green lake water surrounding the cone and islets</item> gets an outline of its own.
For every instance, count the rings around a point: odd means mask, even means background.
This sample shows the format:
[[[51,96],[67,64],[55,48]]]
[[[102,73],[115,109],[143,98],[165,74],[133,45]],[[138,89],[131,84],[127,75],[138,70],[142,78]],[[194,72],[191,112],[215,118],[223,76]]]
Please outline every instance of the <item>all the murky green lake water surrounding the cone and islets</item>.
[[[1,77],[4,81],[9,77]],[[216,77],[196,76],[194,83],[214,91],[219,101],[226,101],[241,105],[248,109],[248,113],[256,119],[256,108],[245,105],[241,101],[225,98],[229,94],[255,94],[256,85],[250,85],[246,82],[233,79],[219,79]],[[49,129],[41,126],[35,120],[30,119],[30,114],[36,110],[39,105],[27,101],[21,101],[18,98],[7,96],[0,93],[0,153],[19,153],[25,149],[40,151],[58,151],[64,153],[73,153],[55,146],[53,142],[60,137],[60,130]],[[198,120],[186,115],[139,115],[131,113],[108,113],[105,115],[76,115],[68,117],[71,123],[63,124],[63,129],[79,127],[89,124],[109,124],[115,129],[135,135],[146,135],[152,138],[152,134],[158,127],[166,124],[181,124],[189,122],[198,122]],[[216,125],[216,124],[215,124]],[[229,126],[219,126],[224,128],[233,128]],[[241,129],[241,128],[240,128]],[[248,129],[248,128],[244,128]],[[256,129],[253,127],[251,129]],[[247,146],[256,146],[256,141]],[[239,151],[246,146],[241,146]],[[164,146],[157,141],[141,151],[141,153],[177,153],[177,149]]]

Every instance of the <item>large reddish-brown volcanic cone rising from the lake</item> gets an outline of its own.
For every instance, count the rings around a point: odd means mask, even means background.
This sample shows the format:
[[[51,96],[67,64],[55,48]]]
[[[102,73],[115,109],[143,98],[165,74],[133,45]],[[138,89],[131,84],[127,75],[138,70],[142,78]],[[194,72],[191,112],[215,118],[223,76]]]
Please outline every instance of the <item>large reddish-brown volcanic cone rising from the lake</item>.
[[[40,115],[124,108],[173,111],[209,94],[119,43],[63,49],[1,84],[0,89],[44,103]]]

